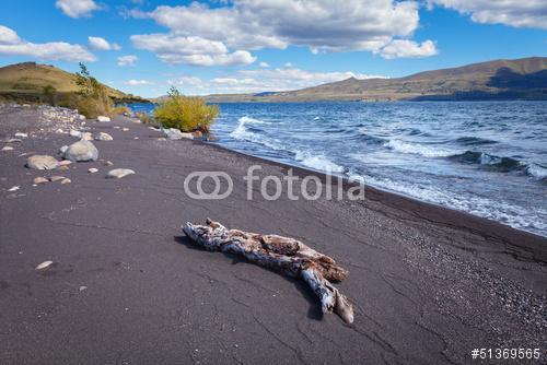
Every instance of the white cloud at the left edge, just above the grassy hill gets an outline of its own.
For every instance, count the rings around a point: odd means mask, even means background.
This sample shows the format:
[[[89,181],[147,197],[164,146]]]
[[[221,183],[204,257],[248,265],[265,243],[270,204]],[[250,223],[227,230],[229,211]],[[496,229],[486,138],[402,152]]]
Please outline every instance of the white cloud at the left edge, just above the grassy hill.
[[[95,61],[96,58],[80,45],[65,42],[31,43],[21,39],[18,34],[0,25],[0,55],[26,56],[39,60]]]

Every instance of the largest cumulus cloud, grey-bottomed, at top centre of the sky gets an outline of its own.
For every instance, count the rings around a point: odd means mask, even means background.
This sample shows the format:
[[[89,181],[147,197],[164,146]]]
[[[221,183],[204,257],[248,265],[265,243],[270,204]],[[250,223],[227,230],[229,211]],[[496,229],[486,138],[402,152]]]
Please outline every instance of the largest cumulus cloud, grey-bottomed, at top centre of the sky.
[[[379,52],[394,39],[411,37],[419,25],[417,1],[233,0],[222,3],[214,8],[193,2],[162,5],[149,12],[132,10],[130,16],[153,19],[170,31],[133,37],[153,36],[158,43],[160,37],[181,43],[184,42],[179,39],[196,37],[222,44],[230,50],[284,49],[293,45],[306,46],[314,54]],[[175,56],[174,50],[184,52],[184,48],[171,46],[166,52],[153,48],[147,47],[164,60],[187,61],[186,55]],[[197,58],[207,60],[205,63],[218,63],[208,57]]]

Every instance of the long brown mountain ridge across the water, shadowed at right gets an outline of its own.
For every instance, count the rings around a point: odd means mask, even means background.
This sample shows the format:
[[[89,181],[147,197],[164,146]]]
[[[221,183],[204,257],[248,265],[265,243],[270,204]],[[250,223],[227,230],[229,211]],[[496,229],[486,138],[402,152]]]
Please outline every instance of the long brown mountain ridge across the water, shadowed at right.
[[[219,102],[547,99],[547,57],[496,60],[398,79],[354,78],[289,92],[209,95]]]

